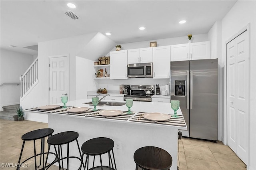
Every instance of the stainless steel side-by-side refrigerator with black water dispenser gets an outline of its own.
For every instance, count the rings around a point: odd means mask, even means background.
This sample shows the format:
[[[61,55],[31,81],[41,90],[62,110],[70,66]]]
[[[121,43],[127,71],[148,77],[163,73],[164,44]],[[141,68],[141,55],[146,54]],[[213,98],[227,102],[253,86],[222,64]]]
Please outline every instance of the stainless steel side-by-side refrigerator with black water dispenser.
[[[182,136],[218,140],[218,59],[171,62],[171,100],[180,101]]]

